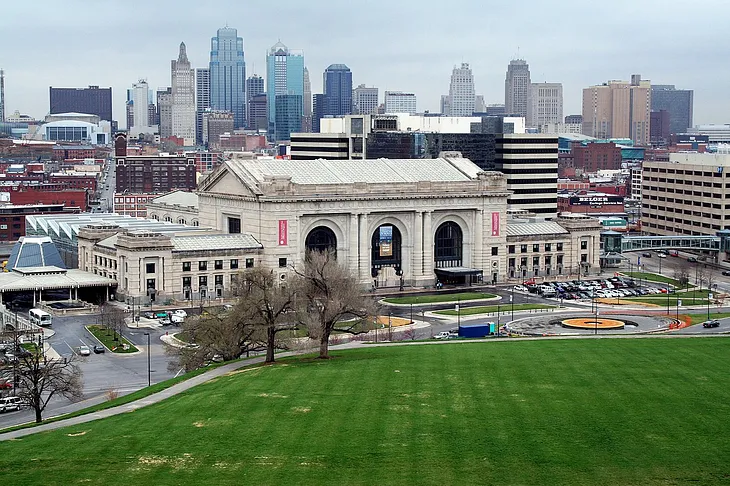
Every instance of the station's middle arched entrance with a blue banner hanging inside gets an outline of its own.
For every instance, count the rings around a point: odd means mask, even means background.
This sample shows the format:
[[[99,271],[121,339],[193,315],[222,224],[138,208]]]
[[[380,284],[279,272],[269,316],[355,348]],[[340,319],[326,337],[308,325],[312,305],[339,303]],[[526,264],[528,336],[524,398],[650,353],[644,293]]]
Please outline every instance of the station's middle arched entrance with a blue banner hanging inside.
[[[376,286],[403,285],[401,246],[401,234],[394,225],[381,224],[373,232],[370,268]]]

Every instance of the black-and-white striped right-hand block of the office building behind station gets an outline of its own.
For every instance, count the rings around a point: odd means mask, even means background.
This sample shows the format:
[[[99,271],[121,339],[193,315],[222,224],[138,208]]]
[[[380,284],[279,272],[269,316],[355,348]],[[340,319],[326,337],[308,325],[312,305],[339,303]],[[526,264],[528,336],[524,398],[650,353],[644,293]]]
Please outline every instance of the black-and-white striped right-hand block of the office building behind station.
[[[555,218],[558,212],[558,137],[502,134],[496,140],[496,169],[507,176],[508,208]]]

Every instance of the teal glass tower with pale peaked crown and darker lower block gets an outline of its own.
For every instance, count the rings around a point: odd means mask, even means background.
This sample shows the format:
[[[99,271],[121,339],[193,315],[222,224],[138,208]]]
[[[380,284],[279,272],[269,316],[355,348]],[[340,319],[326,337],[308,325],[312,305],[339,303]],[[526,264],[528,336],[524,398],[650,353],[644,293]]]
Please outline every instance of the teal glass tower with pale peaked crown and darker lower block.
[[[279,41],[269,49],[266,73],[269,137],[276,141],[289,140],[292,131],[301,132],[304,111],[304,54],[290,50]],[[294,106],[294,97],[299,98],[298,110]],[[277,107],[280,101],[286,105],[282,109]],[[285,119],[287,116],[298,119]],[[283,122],[284,126],[277,127],[279,122]],[[289,130],[292,127],[296,128]]]

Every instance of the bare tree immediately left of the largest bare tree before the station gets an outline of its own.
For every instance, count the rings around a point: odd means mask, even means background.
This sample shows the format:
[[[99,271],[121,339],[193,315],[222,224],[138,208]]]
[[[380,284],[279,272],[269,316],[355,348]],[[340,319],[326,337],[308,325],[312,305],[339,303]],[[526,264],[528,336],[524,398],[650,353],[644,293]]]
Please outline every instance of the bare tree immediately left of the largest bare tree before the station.
[[[233,312],[240,319],[263,331],[266,362],[274,362],[276,335],[281,331],[297,329],[293,314],[296,285],[280,285],[271,269],[247,269],[239,279],[238,303]]]

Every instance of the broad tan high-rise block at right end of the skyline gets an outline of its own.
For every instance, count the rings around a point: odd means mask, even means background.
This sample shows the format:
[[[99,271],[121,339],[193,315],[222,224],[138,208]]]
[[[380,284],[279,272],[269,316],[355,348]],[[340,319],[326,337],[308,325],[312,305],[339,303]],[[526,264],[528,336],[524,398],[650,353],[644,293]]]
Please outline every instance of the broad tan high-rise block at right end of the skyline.
[[[650,141],[651,83],[641,75],[631,82],[609,81],[583,90],[583,134],[596,138]]]

